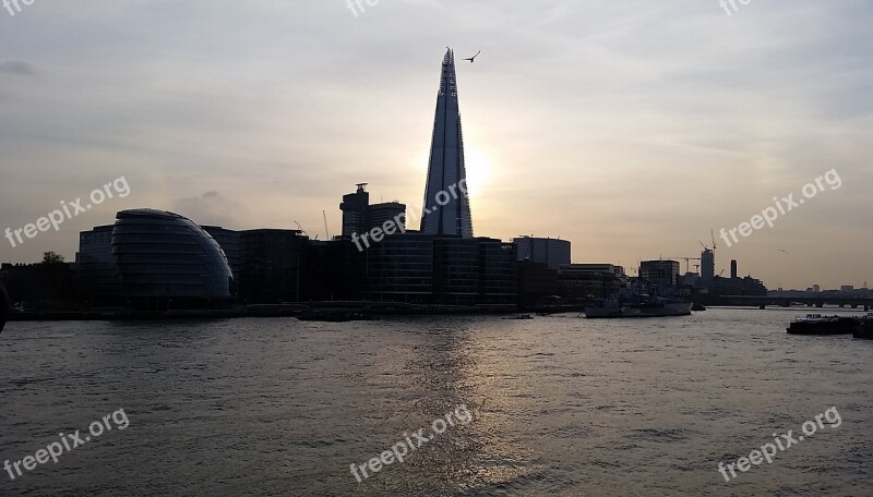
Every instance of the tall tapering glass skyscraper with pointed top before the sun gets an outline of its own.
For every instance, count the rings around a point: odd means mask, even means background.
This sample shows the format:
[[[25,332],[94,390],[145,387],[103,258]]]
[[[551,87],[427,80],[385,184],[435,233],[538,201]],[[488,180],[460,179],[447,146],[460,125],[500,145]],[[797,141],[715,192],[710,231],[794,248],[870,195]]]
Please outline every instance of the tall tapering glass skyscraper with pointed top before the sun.
[[[455,54],[452,49],[447,49],[443,58],[436,116],[433,120],[428,184],[421,216],[422,233],[473,238],[470,202],[465,193],[466,179]]]

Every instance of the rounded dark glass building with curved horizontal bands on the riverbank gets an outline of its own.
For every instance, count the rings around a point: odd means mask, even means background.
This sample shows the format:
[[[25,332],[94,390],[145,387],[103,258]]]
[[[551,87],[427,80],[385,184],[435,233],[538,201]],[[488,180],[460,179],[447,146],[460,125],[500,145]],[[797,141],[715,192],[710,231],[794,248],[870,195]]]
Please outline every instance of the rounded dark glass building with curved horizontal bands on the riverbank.
[[[218,243],[190,219],[155,209],[122,210],[112,228],[121,294],[141,308],[223,307],[234,275]]]

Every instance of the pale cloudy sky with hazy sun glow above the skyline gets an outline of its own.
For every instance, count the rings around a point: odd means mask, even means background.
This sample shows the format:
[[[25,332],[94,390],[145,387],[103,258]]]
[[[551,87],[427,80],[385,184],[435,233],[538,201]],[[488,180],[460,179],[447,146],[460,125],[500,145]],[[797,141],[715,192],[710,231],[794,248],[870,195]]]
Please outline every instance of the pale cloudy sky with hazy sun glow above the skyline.
[[[716,272],[873,284],[869,0],[19,4],[0,9],[2,262],[74,260],[79,231],[129,208],[322,240],[356,183],[419,210],[449,46],[482,51],[457,66],[476,235],[630,269],[699,257],[714,230]]]

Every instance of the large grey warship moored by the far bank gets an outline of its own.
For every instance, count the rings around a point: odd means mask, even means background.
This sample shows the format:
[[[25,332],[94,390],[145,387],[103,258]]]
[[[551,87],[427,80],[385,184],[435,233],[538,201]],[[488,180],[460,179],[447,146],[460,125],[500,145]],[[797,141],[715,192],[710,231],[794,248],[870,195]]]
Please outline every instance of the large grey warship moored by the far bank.
[[[585,317],[670,317],[691,315],[692,303],[677,294],[674,289],[644,289],[639,284],[613,293],[601,304],[585,307]]]

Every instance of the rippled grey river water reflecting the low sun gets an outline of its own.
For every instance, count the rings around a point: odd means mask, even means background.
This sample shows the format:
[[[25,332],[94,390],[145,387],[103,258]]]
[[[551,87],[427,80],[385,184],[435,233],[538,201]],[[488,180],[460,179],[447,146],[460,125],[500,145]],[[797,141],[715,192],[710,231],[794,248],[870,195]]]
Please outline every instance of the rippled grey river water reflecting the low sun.
[[[11,323],[0,463],[130,424],[0,470],[0,495],[871,496],[873,341],[786,335],[799,312]],[[351,474],[461,404],[469,423]],[[840,426],[719,474],[832,407]]]

